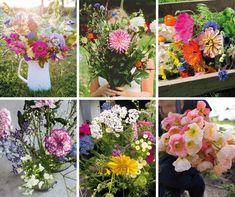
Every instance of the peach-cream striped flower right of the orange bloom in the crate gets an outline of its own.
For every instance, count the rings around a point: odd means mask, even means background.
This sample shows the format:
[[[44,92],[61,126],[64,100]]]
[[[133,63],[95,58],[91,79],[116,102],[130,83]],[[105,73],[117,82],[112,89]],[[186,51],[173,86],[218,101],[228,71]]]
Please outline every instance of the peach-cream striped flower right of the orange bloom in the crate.
[[[223,47],[223,39],[220,35],[220,31],[218,29],[214,30],[212,27],[207,28],[205,32],[202,32],[199,36],[199,45],[200,50],[202,50],[206,56],[214,58],[219,55]]]

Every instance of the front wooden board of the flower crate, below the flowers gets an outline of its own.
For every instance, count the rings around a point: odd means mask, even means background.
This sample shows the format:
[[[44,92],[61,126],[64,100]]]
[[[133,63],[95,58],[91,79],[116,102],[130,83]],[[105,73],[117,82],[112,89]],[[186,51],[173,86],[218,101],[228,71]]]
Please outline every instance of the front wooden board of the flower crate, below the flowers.
[[[235,88],[235,70],[229,70],[229,78],[220,81],[218,73],[188,78],[159,81],[160,97],[191,97]]]

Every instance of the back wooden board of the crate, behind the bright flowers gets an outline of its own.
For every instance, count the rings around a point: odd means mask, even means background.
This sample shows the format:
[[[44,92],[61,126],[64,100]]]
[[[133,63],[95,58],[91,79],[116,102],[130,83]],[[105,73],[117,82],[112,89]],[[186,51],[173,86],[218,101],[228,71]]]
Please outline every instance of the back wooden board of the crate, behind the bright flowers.
[[[206,4],[211,11],[222,11],[226,7],[235,8],[235,0],[200,0],[178,3],[162,3],[159,4],[159,17],[161,18],[168,14],[174,15],[177,10],[196,11],[198,3]]]

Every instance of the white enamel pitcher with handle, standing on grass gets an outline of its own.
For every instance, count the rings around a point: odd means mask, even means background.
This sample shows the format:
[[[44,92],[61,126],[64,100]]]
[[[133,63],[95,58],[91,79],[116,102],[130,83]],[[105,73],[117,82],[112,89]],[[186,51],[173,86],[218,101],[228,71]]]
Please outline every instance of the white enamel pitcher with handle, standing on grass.
[[[25,79],[20,74],[22,63],[28,64],[28,77]],[[49,73],[49,63],[46,62],[41,68],[38,61],[25,61],[22,59],[19,63],[18,76],[24,81],[32,91],[45,91],[51,89],[51,79]]]

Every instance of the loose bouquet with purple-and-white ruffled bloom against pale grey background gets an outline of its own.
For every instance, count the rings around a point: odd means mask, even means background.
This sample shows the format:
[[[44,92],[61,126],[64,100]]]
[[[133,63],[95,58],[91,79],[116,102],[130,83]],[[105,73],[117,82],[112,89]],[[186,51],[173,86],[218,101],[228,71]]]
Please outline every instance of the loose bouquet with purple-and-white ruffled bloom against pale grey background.
[[[25,195],[34,190],[48,191],[56,183],[53,173],[76,164],[76,103],[67,103],[66,118],[57,115],[61,104],[52,100],[25,101],[23,112],[17,114],[17,129],[11,126],[10,112],[0,110],[0,149],[12,162],[13,173],[24,182],[19,189]]]

